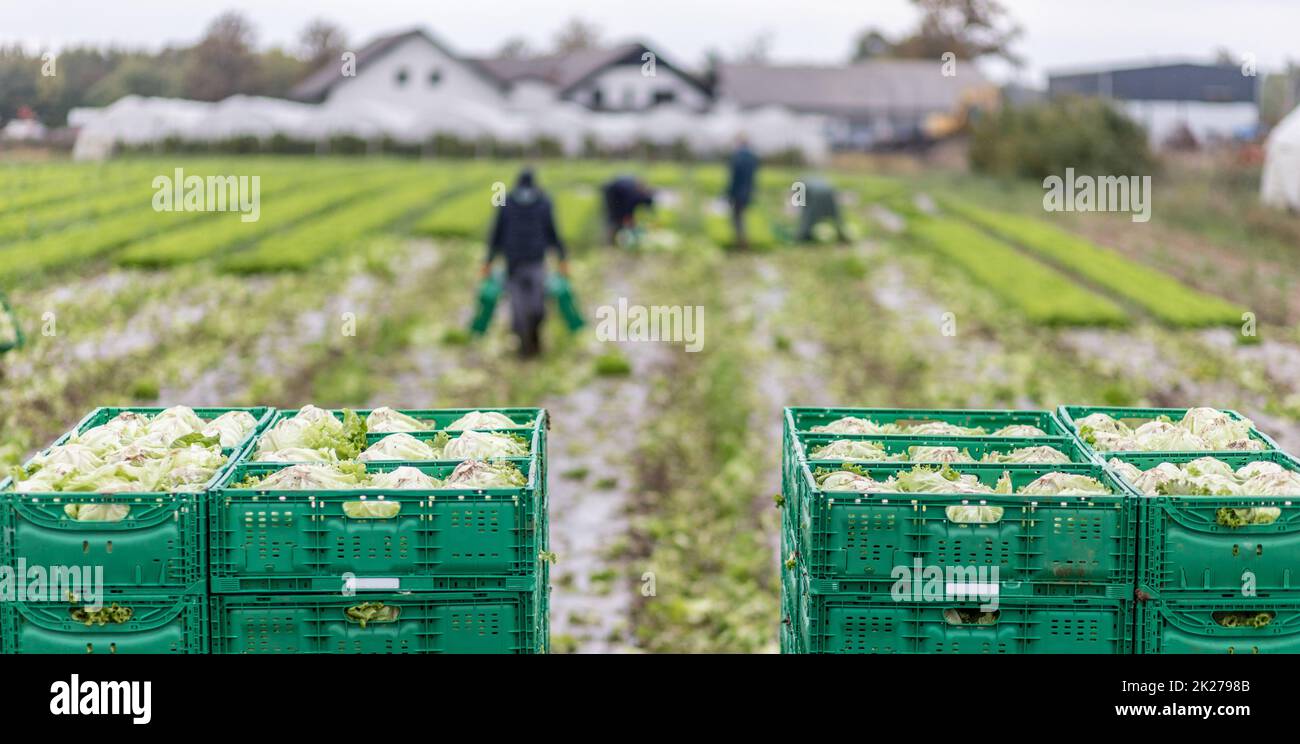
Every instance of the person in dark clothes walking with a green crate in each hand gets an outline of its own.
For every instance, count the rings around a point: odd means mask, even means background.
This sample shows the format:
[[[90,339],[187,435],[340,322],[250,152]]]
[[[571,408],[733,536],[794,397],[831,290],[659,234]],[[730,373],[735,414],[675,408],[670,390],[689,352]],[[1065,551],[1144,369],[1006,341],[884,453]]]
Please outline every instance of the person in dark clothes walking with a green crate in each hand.
[[[482,274],[491,273],[497,256],[506,259],[506,294],[511,329],[519,336],[519,355],[542,352],[542,317],[546,315],[546,251],[555,251],[560,274],[568,274],[564,243],[555,230],[551,199],[537,187],[533,170],[524,168],[506,204],[497,209]]]

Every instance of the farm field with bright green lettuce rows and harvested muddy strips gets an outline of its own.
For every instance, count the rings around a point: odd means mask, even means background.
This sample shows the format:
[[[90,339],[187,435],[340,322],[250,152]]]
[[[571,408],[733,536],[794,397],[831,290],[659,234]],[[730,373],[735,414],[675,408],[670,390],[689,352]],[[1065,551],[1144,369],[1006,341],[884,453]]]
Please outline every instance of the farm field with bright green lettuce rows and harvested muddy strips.
[[[260,219],[153,211],[176,168],[260,176]],[[542,406],[554,650],[775,652],[784,406],[1213,405],[1300,449],[1300,333],[1273,304],[1295,272],[1242,252],[1261,269],[1217,286],[1191,228],[1152,233],[1182,251],[1112,246],[933,174],[833,173],[863,237],[793,246],[800,172],[767,168],[738,254],[720,166],[541,163],[588,317],[701,306],[705,336],[601,342],[552,317],[543,359],[520,363],[504,308],[464,333],[493,187],[517,168],[5,164],[0,290],[27,343],[0,355],[0,464],[94,406]],[[620,172],[662,189],[641,250],[599,245],[595,189]]]

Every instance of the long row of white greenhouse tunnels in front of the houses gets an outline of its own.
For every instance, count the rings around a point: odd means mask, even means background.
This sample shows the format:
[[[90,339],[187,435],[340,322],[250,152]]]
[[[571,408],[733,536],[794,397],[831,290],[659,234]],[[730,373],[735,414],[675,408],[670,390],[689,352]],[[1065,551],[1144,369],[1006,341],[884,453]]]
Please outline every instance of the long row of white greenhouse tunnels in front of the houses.
[[[819,116],[780,107],[740,109],[725,103],[706,112],[663,104],[646,113],[612,113],[568,101],[543,104],[537,99],[510,108],[473,99],[459,100],[454,107],[415,108],[355,96],[307,104],[246,95],[216,103],[131,95],[99,109],[73,109],[69,124],[79,127],[74,148],[79,160],[108,157],[117,143],[147,146],[169,138],[268,139],[277,134],[313,142],[335,135],[389,137],[403,143],[422,143],[447,134],[519,144],[547,137],[556,139],[568,155],[578,153],[588,139],[608,148],[637,142],[685,142],[697,152],[719,152],[744,134],[759,155],[798,150],[818,163],[829,152],[826,121]]]

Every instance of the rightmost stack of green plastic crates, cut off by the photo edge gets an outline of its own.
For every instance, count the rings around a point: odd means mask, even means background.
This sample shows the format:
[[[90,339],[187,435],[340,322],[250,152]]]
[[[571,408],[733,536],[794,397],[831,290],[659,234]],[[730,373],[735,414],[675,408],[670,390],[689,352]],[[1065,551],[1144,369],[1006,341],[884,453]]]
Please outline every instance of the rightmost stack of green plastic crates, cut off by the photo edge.
[[[1182,418],[1186,408],[1061,406],[1061,420],[1078,436],[1078,419],[1101,412],[1117,419]],[[1243,416],[1225,410],[1230,416]],[[1096,451],[1141,470],[1214,457],[1238,468],[1252,460],[1300,470],[1300,462],[1258,429],[1265,450],[1221,453]],[[1083,446],[1092,447],[1079,437]],[[1108,466],[1109,468],[1110,466]],[[1114,468],[1110,468],[1114,470]],[[1140,503],[1135,617],[1138,653],[1300,653],[1300,509],[1286,497],[1148,497],[1117,472]],[[1277,506],[1273,524],[1227,527],[1219,509]],[[1254,575],[1254,596],[1243,596],[1242,574]],[[1264,627],[1223,627],[1219,613],[1273,613]]]

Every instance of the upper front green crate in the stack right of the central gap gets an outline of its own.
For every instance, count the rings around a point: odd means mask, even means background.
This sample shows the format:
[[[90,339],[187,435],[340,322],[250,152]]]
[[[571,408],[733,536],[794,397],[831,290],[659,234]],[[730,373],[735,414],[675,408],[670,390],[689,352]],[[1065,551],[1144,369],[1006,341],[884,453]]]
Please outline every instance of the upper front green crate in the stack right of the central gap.
[[[1135,498],[1101,466],[953,466],[988,485],[1004,472],[1014,488],[1048,472],[1067,472],[1096,477],[1114,492],[1088,497],[820,490],[815,470],[838,466],[811,460],[800,476],[798,559],[815,581],[850,580],[864,593],[888,592],[896,567],[920,561],[974,570],[996,566],[1002,596],[1132,596]],[[878,480],[910,467],[863,464]],[[946,507],[961,505],[997,506],[1004,512],[996,523],[949,520]]]

